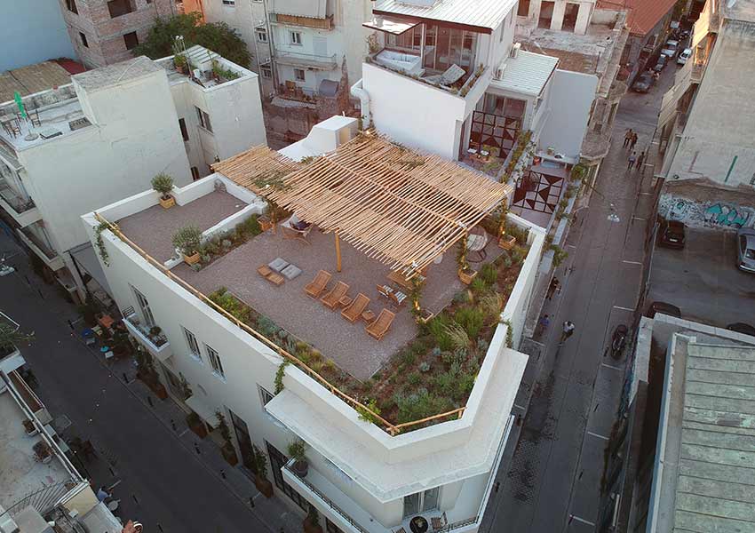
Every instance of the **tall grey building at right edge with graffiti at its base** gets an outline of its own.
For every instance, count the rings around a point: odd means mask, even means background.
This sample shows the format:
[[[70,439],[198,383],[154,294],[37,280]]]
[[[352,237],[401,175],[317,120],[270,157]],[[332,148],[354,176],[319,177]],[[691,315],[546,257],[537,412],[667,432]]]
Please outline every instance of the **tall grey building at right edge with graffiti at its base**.
[[[664,177],[659,211],[697,227],[755,227],[755,2],[709,0],[692,56],[658,116]]]

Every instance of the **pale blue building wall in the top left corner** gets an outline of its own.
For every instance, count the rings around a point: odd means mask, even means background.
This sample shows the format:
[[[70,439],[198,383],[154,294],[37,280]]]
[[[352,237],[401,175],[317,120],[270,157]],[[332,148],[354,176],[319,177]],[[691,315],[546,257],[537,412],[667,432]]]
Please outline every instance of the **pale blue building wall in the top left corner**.
[[[68,28],[55,2],[16,2],[0,18],[0,72],[45,60],[76,59]]]

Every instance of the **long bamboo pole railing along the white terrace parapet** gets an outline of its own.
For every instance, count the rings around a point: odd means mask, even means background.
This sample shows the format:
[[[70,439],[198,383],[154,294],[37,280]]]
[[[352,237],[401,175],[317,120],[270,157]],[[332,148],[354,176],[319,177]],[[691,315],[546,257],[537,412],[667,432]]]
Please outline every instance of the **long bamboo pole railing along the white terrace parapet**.
[[[270,340],[269,338],[266,338],[257,330],[250,328],[250,326],[238,320],[236,317],[234,317],[233,314],[228,313],[223,307],[213,302],[210,298],[205,296],[201,291],[196,290],[191,284],[184,281],[178,275],[173,274],[170,269],[166,268],[163,265],[163,263],[161,263],[157,259],[150,256],[146,251],[139,248],[139,245],[137,245],[136,243],[133,243],[131,239],[129,239],[126,235],[123,235],[123,232],[120,230],[120,228],[116,224],[108,221],[98,212],[94,213],[94,218],[99,222],[100,225],[106,226],[107,229],[109,229],[113,233],[113,235],[118,237],[123,243],[129,246],[133,251],[136,251],[139,254],[139,256],[141,256],[143,259],[146,259],[147,262],[151,264],[153,267],[157,268],[163,274],[167,275],[168,278],[170,278],[173,282],[177,282],[183,289],[188,290],[193,296],[195,296],[196,298],[199,298],[204,304],[206,304],[207,306],[210,306],[219,314],[222,314],[223,316],[225,316],[229,321],[234,322],[236,326],[238,326],[242,330],[249,333],[252,337],[258,339],[258,341],[260,341],[262,344],[273,349],[275,353],[280,355],[284,360],[288,360],[290,362],[295,363],[296,366],[299,368],[299,370],[304,371],[310,378],[313,378],[315,381],[319,382],[322,386],[330,390],[331,394],[338,396],[338,398],[346,402],[346,404],[348,404],[352,409],[357,410],[357,412],[363,411],[363,412],[369,413],[370,416],[372,417],[373,423],[376,426],[383,429],[386,433],[390,434],[391,436],[396,436],[398,434],[401,434],[403,430],[411,426],[422,425],[428,421],[439,419],[439,418],[451,418],[451,417],[461,418],[462,415],[464,414],[464,411],[466,410],[466,406],[457,408],[455,410],[450,410],[445,413],[433,415],[432,417],[422,418],[420,420],[413,420],[411,422],[405,422],[403,424],[392,424],[388,422],[387,420],[385,420],[385,418],[382,418],[373,410],[370,410],[370,408],[364,405],[362,402],[359,402],[358,400],[352,398],[348,394],[339,390],[338,387],[330,384],[330,382],[327,379],[323,378],[319,373],[312,370],[304,362],[300,361],[295,355],[290,354],[289,352],[284,350],[281,346],[276,345],[272,340]]]

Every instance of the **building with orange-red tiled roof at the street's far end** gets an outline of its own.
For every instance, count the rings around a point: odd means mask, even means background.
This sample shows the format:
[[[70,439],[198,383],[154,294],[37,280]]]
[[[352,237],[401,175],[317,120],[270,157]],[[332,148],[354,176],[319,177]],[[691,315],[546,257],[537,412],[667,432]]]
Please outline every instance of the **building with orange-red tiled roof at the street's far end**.
[[[629,84],[640,73],[655,66],[657,54],[668,36],[675,4],[675,0],[598,0],[600,9],[629,13],[627,26],[630,36],[621,60],[628,71]]]

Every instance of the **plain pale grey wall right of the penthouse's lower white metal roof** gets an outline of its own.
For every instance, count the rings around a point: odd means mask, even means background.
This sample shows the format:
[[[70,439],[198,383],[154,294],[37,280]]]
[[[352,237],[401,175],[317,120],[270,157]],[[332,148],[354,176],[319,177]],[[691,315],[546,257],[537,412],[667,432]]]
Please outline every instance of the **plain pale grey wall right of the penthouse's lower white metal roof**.
[[[549,98],[543,102],[548,115],[540,132],[540,147],[555,147],[557,154],[579,157],[597,87],[596,76],[556,69]]]

